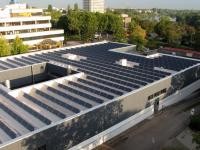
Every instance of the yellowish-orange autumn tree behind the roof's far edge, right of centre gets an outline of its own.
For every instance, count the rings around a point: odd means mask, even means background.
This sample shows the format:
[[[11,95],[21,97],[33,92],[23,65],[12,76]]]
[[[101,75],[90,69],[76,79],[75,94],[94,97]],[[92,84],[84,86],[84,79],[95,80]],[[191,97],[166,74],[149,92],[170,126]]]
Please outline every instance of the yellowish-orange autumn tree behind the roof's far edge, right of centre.
[[[138,50],[142,50],[146,44],[146,31],[140,25],[135,26],[130,34],[130,43],[136,44]]]

